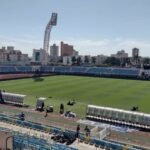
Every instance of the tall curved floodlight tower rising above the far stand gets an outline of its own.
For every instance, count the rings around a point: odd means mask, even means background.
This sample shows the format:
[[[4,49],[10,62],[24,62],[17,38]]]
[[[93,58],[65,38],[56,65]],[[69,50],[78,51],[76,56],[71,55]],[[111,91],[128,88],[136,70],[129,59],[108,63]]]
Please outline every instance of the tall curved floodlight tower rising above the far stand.
[[[45,52],[45,60],[44,65],[48,63],[48,50],[49,50],[49,42],[50,42],[50,33],[53,26],[57,24],[57,13],[52,13],[51,19],[49,20],[44,33],[44,42],[43,42],[43,50]]]

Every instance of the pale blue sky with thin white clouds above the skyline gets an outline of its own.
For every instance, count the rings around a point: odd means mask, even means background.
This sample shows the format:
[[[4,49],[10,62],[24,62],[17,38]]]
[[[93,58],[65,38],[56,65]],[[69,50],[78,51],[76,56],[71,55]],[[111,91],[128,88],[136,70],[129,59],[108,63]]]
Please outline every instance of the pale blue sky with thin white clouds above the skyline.
[[[150,0],[0,0],[0,47],[32,55],[42,48],[51,13],[51,42],[73,44],[80,54],[110,55],[133,47],[150,56]]]

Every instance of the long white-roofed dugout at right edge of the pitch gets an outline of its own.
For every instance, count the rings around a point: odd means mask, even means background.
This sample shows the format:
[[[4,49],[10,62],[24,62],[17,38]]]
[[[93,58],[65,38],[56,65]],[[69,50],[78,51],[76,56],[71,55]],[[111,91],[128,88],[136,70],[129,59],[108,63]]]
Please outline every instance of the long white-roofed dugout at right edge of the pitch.
[[[135,125],[137,127],[145,126],[150,128],[150,115],[124,111],[121,109],[113,109],[108,107],[99,107],[88,105],[87,118],[96,120],[112,121],[116,123],[124,123],[126,125]]]

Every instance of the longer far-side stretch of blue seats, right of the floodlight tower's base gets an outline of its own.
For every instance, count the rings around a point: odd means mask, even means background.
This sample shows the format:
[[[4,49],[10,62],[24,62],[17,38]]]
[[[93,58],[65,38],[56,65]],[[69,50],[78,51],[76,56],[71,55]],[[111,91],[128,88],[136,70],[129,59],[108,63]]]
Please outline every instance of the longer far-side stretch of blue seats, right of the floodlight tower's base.
[[[87,75],[120,75],[138,77],[140,69],[124,69],[112,67],[63,67],[47,66],[41,67],[42,72],[65,73],[65,74],[87,74]]]

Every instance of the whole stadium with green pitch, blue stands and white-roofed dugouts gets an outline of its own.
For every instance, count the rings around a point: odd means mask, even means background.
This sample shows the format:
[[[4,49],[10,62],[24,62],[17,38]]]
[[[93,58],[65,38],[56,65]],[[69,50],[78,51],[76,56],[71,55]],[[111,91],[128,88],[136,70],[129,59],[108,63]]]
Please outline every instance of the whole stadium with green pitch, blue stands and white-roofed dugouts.
[[[115,67],[1,66],[0,130],[6,137],[0,146],[149,149],[150,83],[145,81],[149,75],[143,76],[148,73]]]

